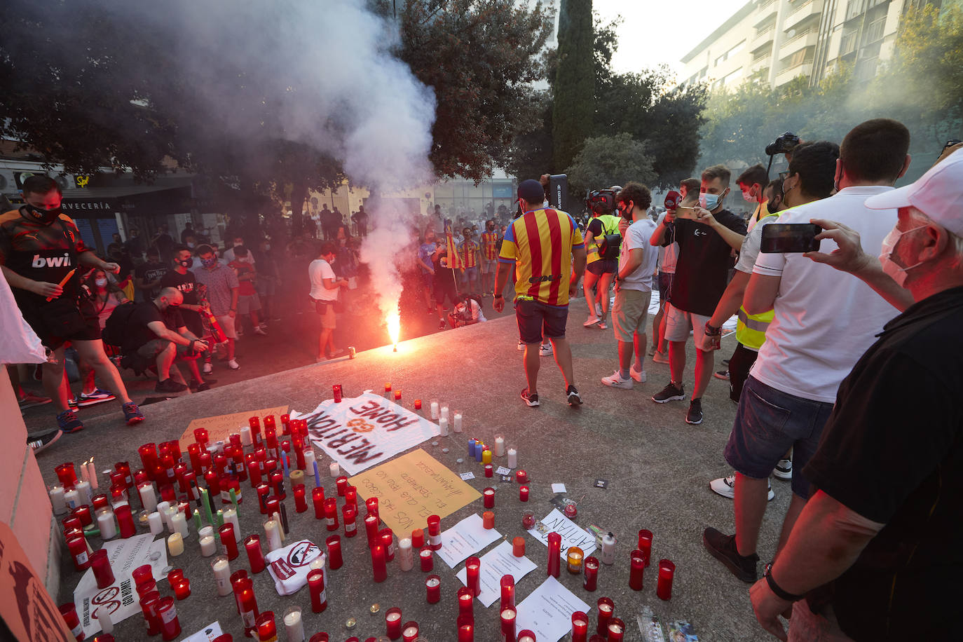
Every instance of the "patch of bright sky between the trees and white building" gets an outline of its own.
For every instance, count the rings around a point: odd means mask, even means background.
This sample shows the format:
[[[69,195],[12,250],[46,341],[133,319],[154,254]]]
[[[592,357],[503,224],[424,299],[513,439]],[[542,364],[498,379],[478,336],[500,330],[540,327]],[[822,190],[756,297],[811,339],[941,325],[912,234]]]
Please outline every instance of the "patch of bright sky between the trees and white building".
[[[603,23],[621,14],[618,51],[612,57],[616,73],[638,71],[668,64],[682,71],[683,56],[748,0],[593,0],[592,9]],[[677,26],[679,16],[687,17],[685,33]]]

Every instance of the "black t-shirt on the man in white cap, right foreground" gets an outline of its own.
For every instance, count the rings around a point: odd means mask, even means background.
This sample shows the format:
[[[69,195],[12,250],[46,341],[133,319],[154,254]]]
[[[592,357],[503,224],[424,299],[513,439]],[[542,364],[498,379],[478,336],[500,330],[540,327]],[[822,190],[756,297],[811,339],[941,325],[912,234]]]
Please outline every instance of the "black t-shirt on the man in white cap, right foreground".
[[[963,571],[963,288],[932,295],[884,326],[840,384],[814,486],[885,524],[823,587],[857,640],[958,639]],[[822,590],[818,590],[822,592]]]

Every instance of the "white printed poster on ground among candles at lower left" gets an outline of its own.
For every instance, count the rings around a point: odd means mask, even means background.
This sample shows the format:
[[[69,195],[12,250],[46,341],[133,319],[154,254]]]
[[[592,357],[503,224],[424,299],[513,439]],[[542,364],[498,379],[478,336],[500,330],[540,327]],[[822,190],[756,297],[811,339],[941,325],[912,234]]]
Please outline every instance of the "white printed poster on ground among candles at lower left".
[[[131,578],[134,569],[150,564],[154,579],[160,581],[165,577],[162,570],[168,565],[164,538],[155,541],[150,533],[104,542],[104,550],[111,561],[114,583],[106,588],[97,588],[93,571],[88,569],[73,590],[77,617],[80,618],[80,625],[88,637],[100,630],[100,622],[94,615],[98,608],[110,611],[114,624],[141,612],[141,604],[134,590],[134,580]]]

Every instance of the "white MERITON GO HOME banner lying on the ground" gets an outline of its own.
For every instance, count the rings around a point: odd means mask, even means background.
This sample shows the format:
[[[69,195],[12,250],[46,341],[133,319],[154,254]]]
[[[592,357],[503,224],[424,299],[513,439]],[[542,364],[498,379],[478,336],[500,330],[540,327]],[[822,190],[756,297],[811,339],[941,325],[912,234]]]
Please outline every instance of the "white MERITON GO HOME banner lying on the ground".
[[[340,403],[326,399],[309,413],[292,412],[291,418],[305,420],[311,441],[348,475],[441,434],[437,424],[371,391]]]

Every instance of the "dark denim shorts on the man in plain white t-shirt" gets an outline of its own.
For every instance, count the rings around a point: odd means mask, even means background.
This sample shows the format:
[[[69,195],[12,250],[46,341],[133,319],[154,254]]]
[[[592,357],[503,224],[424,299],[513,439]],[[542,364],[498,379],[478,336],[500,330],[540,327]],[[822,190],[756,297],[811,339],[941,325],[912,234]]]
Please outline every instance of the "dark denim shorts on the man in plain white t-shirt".
[[[793,492],[809,499],[810,484],[801,471],[819,447],[832,409],[832,403],[788,395],[750,374],[742,386],[725,460],[742,475],[765,479],[793,448]]]

